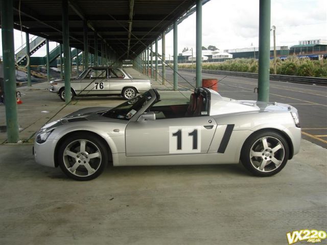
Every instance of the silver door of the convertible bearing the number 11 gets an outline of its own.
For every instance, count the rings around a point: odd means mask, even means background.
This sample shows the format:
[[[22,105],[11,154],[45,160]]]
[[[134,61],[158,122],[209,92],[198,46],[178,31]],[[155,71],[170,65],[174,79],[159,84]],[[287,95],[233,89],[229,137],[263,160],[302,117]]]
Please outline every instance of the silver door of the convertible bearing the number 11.
[[[216,127],[211,116],[130,121],[126,156],[205,154]]]

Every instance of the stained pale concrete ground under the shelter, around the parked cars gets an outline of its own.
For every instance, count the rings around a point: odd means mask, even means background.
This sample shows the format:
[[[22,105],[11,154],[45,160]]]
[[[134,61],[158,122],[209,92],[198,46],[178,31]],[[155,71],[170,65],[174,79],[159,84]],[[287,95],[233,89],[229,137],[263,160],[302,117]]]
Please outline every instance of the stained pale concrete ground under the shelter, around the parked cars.
[[[191,93],[153,87],[167,102]],[[46,88],[21,88],[26,142],[0,144],[1,244],[288,244],[287,232],[325,230],[327,149],[302,139],[300,153],[269,178],[223,164],[108,166],[95,180],[73,181],[34,162],[33,133],[50,119],[123,99],[84,97],[64,107]]]

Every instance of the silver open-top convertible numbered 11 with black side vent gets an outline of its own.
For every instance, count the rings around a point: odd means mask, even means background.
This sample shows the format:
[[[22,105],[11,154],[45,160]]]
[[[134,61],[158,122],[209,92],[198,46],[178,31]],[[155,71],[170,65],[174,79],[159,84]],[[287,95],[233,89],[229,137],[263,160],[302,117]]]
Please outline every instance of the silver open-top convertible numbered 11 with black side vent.
[[[113,166],[239,163],[271,176],[299,152],[297,110],[286,104],[236,101],[199,87],[190,104],[160,105],[155,89],[109,109],[90,107],[44,125],[37,163],[76,180]]]

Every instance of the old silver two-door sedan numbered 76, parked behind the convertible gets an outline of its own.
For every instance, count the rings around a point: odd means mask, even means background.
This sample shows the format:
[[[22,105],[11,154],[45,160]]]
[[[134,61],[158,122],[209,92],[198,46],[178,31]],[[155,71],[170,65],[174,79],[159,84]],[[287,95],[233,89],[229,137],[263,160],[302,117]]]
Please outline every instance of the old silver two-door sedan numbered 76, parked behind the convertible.
[[[50,86],[50,92],[57,93],[65,101],[64,80],[54,80]],[[72,98],[76,95],[122,95],[129,100],[150,88],[150,80],[132,78],[124,69],[114,67],[89,67],[71,80]]]

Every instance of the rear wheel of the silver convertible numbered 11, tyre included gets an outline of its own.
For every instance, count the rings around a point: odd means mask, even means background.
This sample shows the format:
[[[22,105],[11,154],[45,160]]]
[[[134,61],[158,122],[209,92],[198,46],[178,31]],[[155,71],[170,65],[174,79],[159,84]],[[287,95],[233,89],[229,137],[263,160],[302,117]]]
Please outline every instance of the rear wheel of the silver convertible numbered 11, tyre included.
[[[252,174],[268,177],[281,171],[289,157],[289,145],[276,132],[257,132],[246,139],[241,151],[241,162]]]

